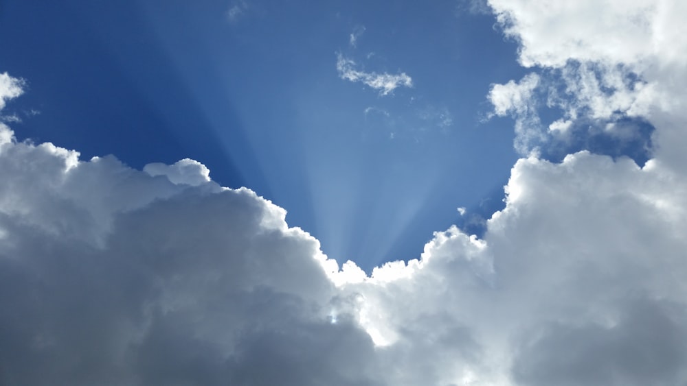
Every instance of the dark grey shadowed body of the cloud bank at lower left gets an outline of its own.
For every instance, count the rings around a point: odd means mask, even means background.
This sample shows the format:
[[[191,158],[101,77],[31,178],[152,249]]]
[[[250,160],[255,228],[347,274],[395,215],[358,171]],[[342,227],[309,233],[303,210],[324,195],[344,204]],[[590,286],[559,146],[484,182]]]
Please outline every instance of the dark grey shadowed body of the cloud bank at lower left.
[[[372,341],[328,323],[317,243],[261,225],[249,191],[179,190],[113,215],[101,245],[72,234],[74,202],[43,199],[56,226],[1,217],[0,383],[372,385],[339,363]]]

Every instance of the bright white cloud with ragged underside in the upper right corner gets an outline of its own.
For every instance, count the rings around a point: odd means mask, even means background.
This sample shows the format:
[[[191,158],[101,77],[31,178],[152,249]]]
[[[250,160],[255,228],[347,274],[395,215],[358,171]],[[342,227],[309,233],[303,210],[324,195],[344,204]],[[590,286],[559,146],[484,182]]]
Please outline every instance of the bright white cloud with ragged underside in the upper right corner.
[[[540,103],[560,108],[564,119],[601,125],[627,117],[654,126],[671,121],[653,136],[653,152],[678,169],[687,162],[677,150],[687,138],[675,124],[686,106],[677,86],[687,80],[687,38],[675,16],[687,11],[683,1],[491,0],[490,5],[506,35],[520,43],[521,64],[543,69],[539,76],[547,82],[539,86]]]

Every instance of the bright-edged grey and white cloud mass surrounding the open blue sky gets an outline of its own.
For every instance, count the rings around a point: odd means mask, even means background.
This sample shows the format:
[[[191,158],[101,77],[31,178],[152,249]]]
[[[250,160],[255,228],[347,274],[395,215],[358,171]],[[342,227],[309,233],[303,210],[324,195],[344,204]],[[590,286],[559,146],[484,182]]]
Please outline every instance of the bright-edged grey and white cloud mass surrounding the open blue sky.
[[[532,152],[483,239],[436,232],[418,260],[370,277],[199,162],[137,171],[0,124],[0,383],[687,383],[686,51],[662,51],[684,5],[575,4],[491,1],[523,64],[548,67],[494,85],[495,114],[519,119],[519,138],[553,135],[524,123],[561,71],[552,131],[610,105],[653,124],[651,159]],[[0,101],[20,93],[0,76]]]

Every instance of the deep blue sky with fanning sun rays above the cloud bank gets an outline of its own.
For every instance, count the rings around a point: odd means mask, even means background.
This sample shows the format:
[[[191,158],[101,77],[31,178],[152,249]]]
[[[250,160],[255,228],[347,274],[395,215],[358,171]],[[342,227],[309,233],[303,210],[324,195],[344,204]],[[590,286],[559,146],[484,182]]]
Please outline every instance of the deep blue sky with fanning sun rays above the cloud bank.
[[[27,81],[19,138],[139,169],[199,160],[370,269],[502,204],[513,123],[480,117],[526,70],[494,23],[448,0],[5,0],[0,71]],[[337,55],[414,85],[381,95]]]

